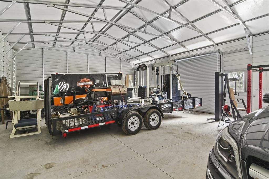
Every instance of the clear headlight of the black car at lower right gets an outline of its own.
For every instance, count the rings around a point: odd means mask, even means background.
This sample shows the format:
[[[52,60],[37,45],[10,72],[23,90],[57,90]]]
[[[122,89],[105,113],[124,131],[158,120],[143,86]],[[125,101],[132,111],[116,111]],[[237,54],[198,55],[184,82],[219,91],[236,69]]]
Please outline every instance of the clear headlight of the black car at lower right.
[[[229,134],[228,127],[225,127],[218,134],[213,150],[221,163],[231,171],[235,178],[242,178],[238,146]]]

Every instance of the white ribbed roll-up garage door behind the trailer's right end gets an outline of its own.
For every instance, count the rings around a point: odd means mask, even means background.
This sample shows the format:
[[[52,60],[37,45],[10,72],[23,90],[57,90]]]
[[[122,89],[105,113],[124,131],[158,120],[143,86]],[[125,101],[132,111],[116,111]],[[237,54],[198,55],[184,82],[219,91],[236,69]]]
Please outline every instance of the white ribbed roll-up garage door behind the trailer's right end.
[[[213,55],[180,59],[175,63],[184,90],[193,97],[203,98],[203,106],[194,109],[199,112],[215,113],[214,73],[220,71],[221,55],[217,52],[211,54]]]

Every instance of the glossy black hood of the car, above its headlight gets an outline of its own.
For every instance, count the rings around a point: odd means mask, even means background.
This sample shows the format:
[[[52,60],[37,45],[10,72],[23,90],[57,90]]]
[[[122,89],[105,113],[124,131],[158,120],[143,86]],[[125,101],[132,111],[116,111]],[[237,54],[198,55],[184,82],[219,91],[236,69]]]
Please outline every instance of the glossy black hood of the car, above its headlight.
[[[269,162],[269,106],[243,116],[228,128],[243,160],[254,156]]]

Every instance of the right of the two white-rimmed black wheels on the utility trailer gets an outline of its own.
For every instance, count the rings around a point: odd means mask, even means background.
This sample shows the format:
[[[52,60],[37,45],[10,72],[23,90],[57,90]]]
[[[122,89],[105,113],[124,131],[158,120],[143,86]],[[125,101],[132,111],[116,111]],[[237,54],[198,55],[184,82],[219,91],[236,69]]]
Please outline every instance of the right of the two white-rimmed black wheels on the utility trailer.
[[[161,113],[157,109],[150,109],[144,116],[144,125],[149,130],[155,130],[160,127],[162,123]]]

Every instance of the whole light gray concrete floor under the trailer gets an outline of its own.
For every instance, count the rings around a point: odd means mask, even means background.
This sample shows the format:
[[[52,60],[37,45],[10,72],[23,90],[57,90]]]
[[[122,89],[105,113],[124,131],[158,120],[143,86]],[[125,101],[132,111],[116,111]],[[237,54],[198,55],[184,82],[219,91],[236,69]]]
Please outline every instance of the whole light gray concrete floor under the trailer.
[[[132,136],[111,124],[52,138],[42,120],[41,134],[10,139],[12,125],[0,125],[0,178],[205,178],[224,127],[210,117],[165,114],[160,128]]]

